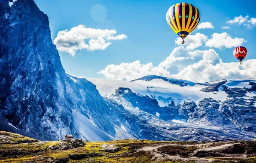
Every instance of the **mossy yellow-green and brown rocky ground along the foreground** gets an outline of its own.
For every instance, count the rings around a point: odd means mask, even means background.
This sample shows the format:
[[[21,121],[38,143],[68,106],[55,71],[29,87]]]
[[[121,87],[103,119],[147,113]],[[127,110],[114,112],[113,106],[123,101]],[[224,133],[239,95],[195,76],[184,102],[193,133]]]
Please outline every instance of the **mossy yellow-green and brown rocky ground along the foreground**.
[[[160,142],[80,139],[42,142],[0,132],[0,163],[256,163],[256,141]]]

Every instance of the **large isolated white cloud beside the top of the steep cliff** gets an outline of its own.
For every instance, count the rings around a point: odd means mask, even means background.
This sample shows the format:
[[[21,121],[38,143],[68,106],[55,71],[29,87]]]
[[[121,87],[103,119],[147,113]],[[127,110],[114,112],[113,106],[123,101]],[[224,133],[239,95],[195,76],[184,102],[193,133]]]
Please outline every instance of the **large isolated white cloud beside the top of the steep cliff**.
[[[104,50],[111,45],[110,40],[125,38],[127,36],[124,34],[116,35],[116,30],[101,30],[79,25],[69,31],[59,31],[53,43],[57,46],[58,51],[64,51],[74,56],[79,49]]]

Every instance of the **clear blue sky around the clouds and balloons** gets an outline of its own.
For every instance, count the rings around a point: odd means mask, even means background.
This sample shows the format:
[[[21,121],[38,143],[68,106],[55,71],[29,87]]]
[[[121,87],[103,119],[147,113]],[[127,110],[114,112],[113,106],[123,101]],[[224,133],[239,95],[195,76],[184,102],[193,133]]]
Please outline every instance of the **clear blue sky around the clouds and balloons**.
[[[97,72],[107,65],[129,63],[140,60],[141,64],[152,62],[154,66],[164,61],[174,48],[177,35],[168,27],[165,14],[170,6],[179,3],[178,0],[34,0],[37,6],[49,17],[51,36],[54,40],[61,30],[70,30],[79,24],[88,28],[116,30],[117,34],[125,34],[128,38],[112,40],[112,44],[105,50],[88,51],[82,49],[76,51],[76,55],[60,51],[62,65],[67,73],[90,77],[105,78]],[[202,33],[208,38],[213,33],[226,32],[232,38],[243,38],[247,42],[242,45],[247,48],[247,60],[255,58],[253,52],[256,45],[256,27],[249,29],[243,24],[228,24],[226,21],[236,16],[249,15],[256,18],[254,6],[251,0],[187,0],[199,9],[201,22],[211,22],[213,29],[195,29],[191,34]],[[95,5],[102,5],[107,10],[94,13],[103,21],[97,21],[91,16],[91,9]],[[229,18],[229,19],[227,19]],[[250,20],[248,18],[248,20]],[[229,26],[230,29],[222,29]],[[186,46],[185,46],[186,47]],[[233,48],[206,47],[204,44],[195,50],[209,50],[213,48],[222,62],[237,62],[232,54]]]

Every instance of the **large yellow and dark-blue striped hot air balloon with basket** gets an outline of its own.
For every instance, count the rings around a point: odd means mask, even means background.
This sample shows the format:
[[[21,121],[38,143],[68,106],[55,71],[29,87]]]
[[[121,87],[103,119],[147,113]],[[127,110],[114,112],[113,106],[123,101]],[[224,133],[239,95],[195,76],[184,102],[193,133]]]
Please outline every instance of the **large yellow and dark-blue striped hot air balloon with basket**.
[[[169,27],[184,39],[191,33],[200,21],[198,9],[190,3],[177,3],[171,6],[166,13],[166,21]]]

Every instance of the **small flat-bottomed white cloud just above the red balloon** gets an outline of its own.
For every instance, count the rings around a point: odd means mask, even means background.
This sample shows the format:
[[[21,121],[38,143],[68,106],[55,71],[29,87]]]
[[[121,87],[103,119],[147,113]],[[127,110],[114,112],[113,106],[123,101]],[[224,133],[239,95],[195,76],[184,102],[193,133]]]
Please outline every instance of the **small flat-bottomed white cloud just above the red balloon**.
[[[232,38],[228,33],[213,33],[211,36],[212,38],[208,39],[205,42],[205,45],[208,47],[214,47],[214,48],[232,48],[239,45],[242,45],[243,42],[247,42],[243,38]]]

